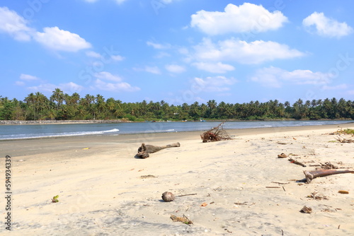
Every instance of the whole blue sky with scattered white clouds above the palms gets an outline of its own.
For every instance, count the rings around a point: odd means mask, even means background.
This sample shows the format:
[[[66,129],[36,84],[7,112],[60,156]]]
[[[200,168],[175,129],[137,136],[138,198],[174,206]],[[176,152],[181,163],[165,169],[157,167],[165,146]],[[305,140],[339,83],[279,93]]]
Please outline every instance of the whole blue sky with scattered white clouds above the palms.
[[[0,1],[0,95],[354,99],[354,1]]]

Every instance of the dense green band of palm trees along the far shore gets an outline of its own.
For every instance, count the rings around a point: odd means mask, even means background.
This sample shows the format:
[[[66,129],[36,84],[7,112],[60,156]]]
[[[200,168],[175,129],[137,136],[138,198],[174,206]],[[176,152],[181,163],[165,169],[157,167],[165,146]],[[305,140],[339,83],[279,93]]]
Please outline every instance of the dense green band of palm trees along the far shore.
[[[64,94],[59,88],[47,98],[42,93],[30,93],[25,100],[8,100],[0,96],[0,120],[38,119],[354,119],[354,101],[341,98],[302,101],[290,105],[278,100],[268,102],[169,105],[161,102],[122,102],[102,95]]]

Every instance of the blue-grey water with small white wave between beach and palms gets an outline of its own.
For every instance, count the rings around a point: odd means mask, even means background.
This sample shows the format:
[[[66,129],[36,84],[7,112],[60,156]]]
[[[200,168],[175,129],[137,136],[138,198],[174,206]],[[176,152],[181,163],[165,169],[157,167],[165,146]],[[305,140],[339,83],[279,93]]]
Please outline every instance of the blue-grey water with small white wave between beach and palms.
[[[224,129],[343,124],[350,121],[260,121],[225,122]],[[353,121],[351,121],[353,122]],[[119,135],[161,132],[204,131],[220,122],[142,122],[117,124],[30,124],[1,125],[0,140],[82,135]]]

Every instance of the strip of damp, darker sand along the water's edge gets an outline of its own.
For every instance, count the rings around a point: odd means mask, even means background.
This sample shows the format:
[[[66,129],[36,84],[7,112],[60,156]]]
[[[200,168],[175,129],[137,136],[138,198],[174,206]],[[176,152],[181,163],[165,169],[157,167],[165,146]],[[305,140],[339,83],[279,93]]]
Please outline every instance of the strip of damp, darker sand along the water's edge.
[[[262,128],[246,128],[246,129],[226,129],[227,133],[232,138],[242,138],[244,136],[261,136],[270,134],[282,134],[292,132],[307,132],[329,130],[336,131],[338,129],[354,129],[353,123],[344,124],[323,124],[313,126],[282,126],[282,127],[262,127]],[[57,137],[42,137],[42,138],[18,138],[0,140],[0,151],[15,153],[15,156],[38,155],[42,153],[51,153],[53,151],[65,151],[70,148],[86,148],[86,146],[105,146],[107,143],[117,143],[124,145],[140,146],[141,143],[161,143],[165,140],[183,141],[193,138],[195,141],[200,141],[200,134],[203,131],[181,131],[181,132],[161,132],[161,133],[141,133],[141,134],[119,134],[119,135],[84,135],[84,136],[57,136]],[[172,140],[173,139],[173,140]],[[173,142],[174,142],[173,141]],[[63,143],[69,143],[65,146]],[[219,143],[219,142],[216,142]],[[165,143],[166,144],[166,143]],[[38,145],[41,145],[38,147]],[[16,148],[13,148],[16,147]],[[35,148],[37,147],[37,148]]]

